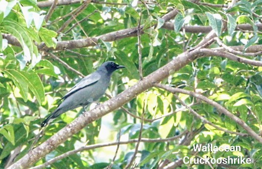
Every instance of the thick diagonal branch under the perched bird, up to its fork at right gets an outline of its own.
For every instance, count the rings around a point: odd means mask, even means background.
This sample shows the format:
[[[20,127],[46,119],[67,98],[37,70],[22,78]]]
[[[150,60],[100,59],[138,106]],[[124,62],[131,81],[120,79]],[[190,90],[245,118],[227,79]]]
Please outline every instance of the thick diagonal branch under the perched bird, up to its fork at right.
[[[61,129],[60,131],[58,131],[56,134],[54,134],[48,140],[43,142],[41,145],[28,152],[24,157],[22,157],[16,163],[11,165],[9,168],[21,169],[32,165],[37,160],[39,160],[47,153],[54,150],[61,143],[66,141],[68,138],[70,138],[73,134],[80,131],[87,124],[105,116],[106,114],[128,103],[140,93],[151,88],[154,82],[163,80],[172,72],[181,69],[191,61],[195,60],[197,57],[199,57],[199,50],[197,49],[180,54],[178,57],[171,60],[169,63],[157,69],[148,76],[144,77],[142,80],[138,81],[134,86],[125,90],[121,94],[102,103],[101,105],[90,110],[89,112],[83,113],[81,116],[76,118],[74,121],[72,121],[69,125]]]

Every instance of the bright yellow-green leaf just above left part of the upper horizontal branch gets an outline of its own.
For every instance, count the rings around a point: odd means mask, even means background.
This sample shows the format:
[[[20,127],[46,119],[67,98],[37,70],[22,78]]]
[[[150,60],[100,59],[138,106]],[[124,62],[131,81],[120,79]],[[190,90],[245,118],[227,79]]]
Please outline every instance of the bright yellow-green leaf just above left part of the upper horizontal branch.
[[[57,33],[46,28],[41,28],[39,30],[40,38],[45,42],[47,47],[56,47],[57,41],[54,39]]]

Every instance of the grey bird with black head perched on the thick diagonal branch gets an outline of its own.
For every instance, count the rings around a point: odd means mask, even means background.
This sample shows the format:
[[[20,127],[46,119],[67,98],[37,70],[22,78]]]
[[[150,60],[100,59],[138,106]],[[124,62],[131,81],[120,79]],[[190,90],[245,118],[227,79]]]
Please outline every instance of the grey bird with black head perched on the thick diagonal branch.
[[[82,78],[61,98],[63,100],[61,104],[41,123],[41,127],[45,127],[62,113],[78,107],[84,109],[85,106],[100,99],[106,93],[112,73],[120,68],[125,68],[125,66],[118,65],[113,61],[106,61],[97,71]]]

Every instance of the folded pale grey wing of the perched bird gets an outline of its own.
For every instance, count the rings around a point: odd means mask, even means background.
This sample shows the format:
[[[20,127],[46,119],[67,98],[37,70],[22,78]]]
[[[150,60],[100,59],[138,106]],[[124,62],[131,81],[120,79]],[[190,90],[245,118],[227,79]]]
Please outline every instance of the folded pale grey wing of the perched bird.
[[[81,81],[79,81],[62,99],[66,99],[73,93],[86,88],[90,85],[95,84],[99,79],[101,78],[101,75],[97,72],[91,73],[88,76],[85,76]]]

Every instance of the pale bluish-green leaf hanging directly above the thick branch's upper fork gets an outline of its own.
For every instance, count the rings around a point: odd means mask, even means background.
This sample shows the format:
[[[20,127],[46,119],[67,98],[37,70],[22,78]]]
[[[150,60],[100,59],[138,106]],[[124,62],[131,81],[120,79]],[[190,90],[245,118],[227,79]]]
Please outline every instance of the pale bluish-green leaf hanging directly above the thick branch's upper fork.
[[[209,25],[215,31],[216,35],[219,37],[222,31],[222,17],[219,14],[211,14],[210,12],[205,13],[209,20]]]

